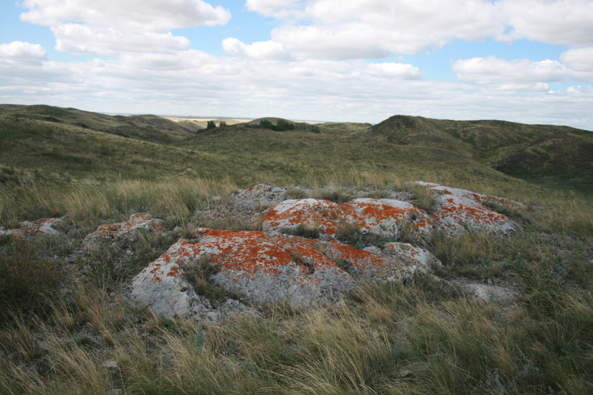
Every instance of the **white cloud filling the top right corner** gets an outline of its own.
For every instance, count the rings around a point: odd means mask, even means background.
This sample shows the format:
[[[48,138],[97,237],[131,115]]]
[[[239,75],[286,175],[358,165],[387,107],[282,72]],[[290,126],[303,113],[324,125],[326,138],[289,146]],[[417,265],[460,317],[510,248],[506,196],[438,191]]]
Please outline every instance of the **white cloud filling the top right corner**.
[[[591,0],[502,0],[515,38],[570,47],[593,46]]]

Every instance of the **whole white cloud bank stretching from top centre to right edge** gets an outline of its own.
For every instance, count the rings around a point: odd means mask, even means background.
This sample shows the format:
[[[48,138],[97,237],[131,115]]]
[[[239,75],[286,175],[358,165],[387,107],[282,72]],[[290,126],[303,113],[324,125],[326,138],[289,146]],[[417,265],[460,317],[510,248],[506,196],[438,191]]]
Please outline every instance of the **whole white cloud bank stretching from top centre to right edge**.
[[[591,0],[247,0],[246,8],[282,19],[272,41],[301,58],[378,59],[486,38],[593,46]]]

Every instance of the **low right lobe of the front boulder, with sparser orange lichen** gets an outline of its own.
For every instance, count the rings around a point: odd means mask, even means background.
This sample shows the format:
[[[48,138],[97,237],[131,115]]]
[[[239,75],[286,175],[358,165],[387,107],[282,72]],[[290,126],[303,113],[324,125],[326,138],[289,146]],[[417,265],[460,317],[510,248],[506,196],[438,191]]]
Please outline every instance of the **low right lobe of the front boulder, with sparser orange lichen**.
[[[388,243],[388,245],[404,245],[404,243]],[[410,244],[407,244],[412,247]],[[387,247],[386,247],[387,249]],[[395,247],[390,250],[398,251]],[[422,248],[412,247],[407,254],[392,253],[384,251],[375,253],[371,251],[357,250],[350,245],[338,241],[329,241],[324,245],[324,252],[333,260],[342,263],[345,270],[355,277],[364,277],[389,283],[408,279],[416,273],[431,271],[433,266],[429,264],[432,260],[438,260]],[[422,257],[425,257],[422,259]],[[432,257],[429,259],[429,257]]]

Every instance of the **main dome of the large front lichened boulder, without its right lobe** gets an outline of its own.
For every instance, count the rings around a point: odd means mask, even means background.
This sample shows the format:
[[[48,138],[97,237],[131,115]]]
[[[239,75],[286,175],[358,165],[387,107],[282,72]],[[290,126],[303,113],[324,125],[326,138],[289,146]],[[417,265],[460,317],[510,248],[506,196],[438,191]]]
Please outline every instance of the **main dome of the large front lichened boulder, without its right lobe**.
[[[198,264],[202,257],[220,269],[211,277],[213,283],[254,303],[288,300],[295,306],[323,305],[335,302],[353,283],[350,274],[304,238],[262,231],[195,231],[199,242],[181,239],[135,277],[136,299],[150,300],[147,304],[153,310],[172,308],[176,303],[154,296],[161,290],[170,295],[171,289],[180,293],[191,288],[183,268]],[[180,306],[187,310],[183,303]]]

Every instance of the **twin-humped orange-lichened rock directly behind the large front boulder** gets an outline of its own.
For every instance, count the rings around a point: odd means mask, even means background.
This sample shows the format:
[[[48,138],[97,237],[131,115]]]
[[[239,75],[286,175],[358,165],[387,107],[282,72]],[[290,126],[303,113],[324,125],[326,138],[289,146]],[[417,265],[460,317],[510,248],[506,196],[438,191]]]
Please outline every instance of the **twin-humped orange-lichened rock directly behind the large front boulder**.
[[[333,238],[340,222],[353,224],[362,232],[396,239],[404,224],[419,237],[432,229],[429,216],[410,203],[394,199],[359,198],[337,204],[322,199],[285,200],[263,215],[263,227],[270,231],[319,228],[326,238]]]

